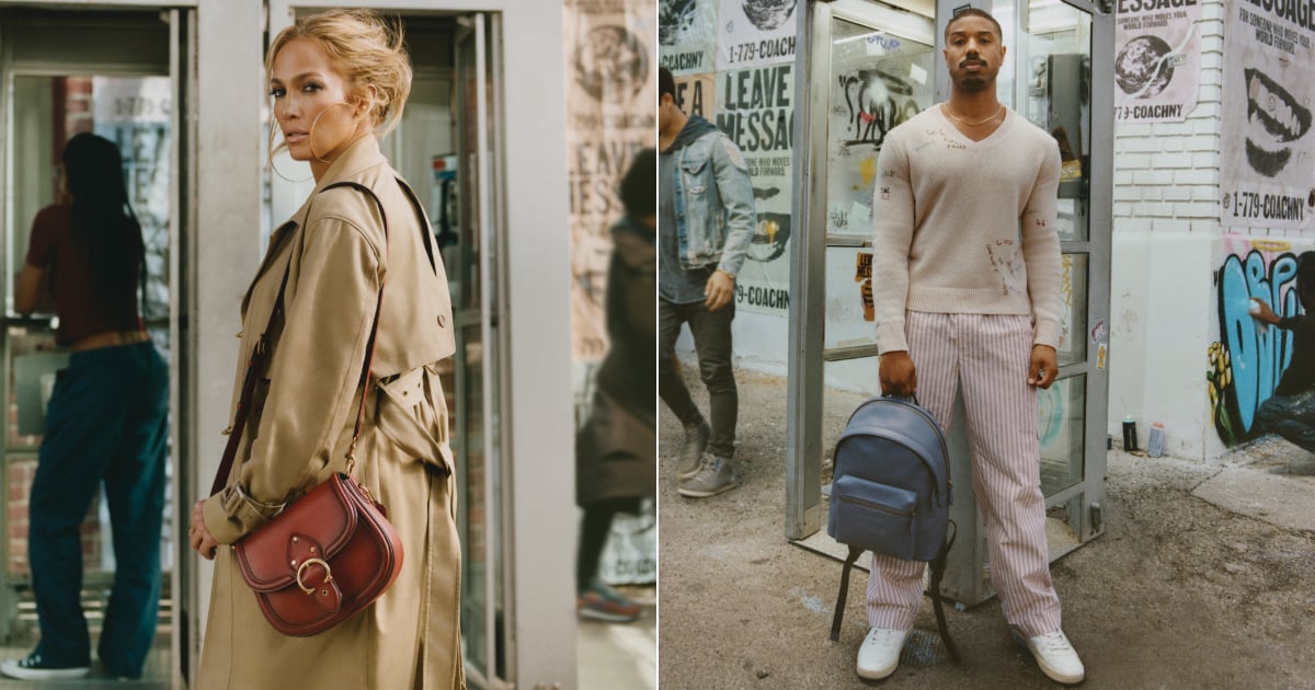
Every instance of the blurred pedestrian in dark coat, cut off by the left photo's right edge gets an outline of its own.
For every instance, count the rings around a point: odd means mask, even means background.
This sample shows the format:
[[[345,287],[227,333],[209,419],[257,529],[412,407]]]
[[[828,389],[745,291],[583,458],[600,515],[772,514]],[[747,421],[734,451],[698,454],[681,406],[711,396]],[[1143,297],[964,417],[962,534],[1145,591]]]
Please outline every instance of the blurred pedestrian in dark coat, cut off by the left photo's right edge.
[[[610,347],[589,419],[576,435],[576,501],[584,509],[576,565],[583,618],[630,622],[640,607],[604,584],[598,560],[617,513],[656,495],[654,344],[658,290],[658,155],[644,149],[621,180],[626,214],[611,227],[606,319]]]

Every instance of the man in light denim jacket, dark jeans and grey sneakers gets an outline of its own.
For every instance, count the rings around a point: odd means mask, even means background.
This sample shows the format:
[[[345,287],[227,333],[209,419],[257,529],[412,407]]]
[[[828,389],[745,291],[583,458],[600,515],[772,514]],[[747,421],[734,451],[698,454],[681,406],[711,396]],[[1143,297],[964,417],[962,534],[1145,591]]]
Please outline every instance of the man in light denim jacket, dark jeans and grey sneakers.
[[[739,396],[731,371],[735,276],[753,239],[753,185],[739,147],[709,121],[686,117],[676,81],[659,74],[658,392],[685,426],[676,465],[681,495],[704,498],[736,486]],[[676,373],[680,326],[689,323],[698,371],[707,386],[704,419]]]

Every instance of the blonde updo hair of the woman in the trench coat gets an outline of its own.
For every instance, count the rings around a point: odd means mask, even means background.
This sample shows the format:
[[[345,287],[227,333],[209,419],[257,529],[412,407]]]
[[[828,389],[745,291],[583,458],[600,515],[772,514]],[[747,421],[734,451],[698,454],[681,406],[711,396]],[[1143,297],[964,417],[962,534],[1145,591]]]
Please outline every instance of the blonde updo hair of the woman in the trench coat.
[[[270,45],[264,57],[266,79],[274,75],[274,58],[296,38],[320,45],[333,68],[345,78],[348,97],[366,97],[367,87],[375,87],[370,113],[375,135],[383,137],[397,126],[412,80],[401,22],[388,22],[370,9],[335,9],[299,17]]]

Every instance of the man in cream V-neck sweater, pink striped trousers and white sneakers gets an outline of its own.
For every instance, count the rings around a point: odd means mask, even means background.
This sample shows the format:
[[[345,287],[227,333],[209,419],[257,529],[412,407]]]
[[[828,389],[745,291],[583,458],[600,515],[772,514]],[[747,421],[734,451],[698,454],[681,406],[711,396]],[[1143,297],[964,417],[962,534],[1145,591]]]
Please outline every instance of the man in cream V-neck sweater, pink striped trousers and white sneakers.
[[[1082,681],[1060,628],[1040,490],[1036,388],[1059,373],[1060,151],[995,99],[999,24],[967,9],[945,26],[951,95],[893,129],[877,159],[873,277],[881,390],[913,396],[944,428],[967,407],[973,492],[1005,618],[1041,672]],[[919,385],[920,384],[920,385]],[[926,564],[873,555],[857,672],[885,678],[922,602]]]

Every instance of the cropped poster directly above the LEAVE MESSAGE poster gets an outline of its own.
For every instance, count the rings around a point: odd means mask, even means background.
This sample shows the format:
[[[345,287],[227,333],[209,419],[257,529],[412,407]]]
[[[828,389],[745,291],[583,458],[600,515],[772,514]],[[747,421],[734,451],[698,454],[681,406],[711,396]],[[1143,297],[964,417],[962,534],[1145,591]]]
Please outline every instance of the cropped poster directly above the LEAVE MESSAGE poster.
[[[721,1],[718,71],[794,62],[794,22],[806,9],[803,0]]]

